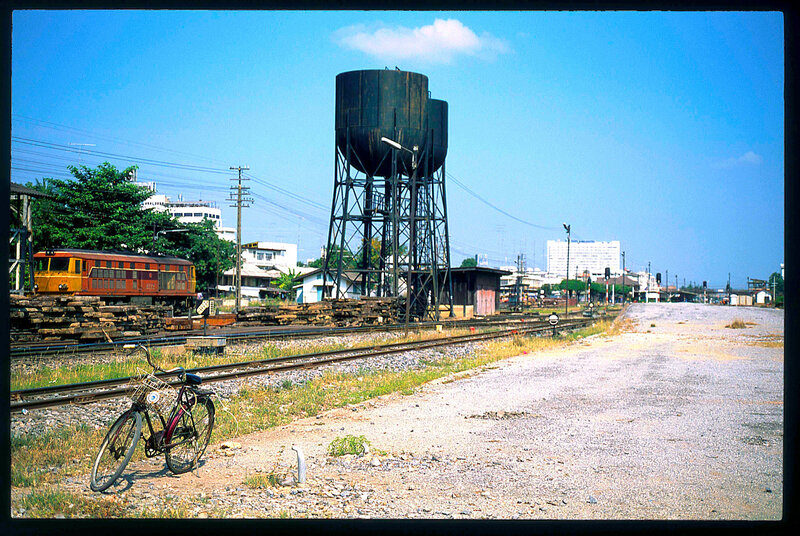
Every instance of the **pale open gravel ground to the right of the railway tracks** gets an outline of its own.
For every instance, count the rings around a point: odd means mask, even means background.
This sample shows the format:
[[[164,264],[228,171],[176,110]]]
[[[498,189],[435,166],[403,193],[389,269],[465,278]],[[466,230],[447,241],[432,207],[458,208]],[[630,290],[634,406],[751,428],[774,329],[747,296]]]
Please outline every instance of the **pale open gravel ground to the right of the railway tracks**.
[[[185,501],[200,517],[781,519],[783,312],[642,304],[626,317],[614,337],[215,444],[195,474],[135,464],[114,500]],[[346,434],[372,452],[327,456]],[[292,445],[305,484],[243,484],[293,469]],[[97,496],[86,482],[61,486]]]

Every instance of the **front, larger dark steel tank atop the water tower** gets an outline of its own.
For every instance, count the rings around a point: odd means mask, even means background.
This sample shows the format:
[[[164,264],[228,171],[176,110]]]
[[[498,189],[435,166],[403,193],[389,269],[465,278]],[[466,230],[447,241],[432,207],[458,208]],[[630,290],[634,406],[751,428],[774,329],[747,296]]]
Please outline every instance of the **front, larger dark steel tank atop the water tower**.
[[[399,70],[349,71],[336,76],[336,146],[370,176],[392,173],[391,147],[423,150],[427,128],[428,77]],[[397,151],[398,170],[411,169],[411,154]]]

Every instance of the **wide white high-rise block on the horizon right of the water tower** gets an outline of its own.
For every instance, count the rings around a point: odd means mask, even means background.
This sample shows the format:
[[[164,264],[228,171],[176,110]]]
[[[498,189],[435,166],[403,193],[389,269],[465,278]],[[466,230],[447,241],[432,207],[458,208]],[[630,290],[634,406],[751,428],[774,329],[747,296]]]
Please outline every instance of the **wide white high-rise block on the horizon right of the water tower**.
[[[604,276],[606,268],[610,268],[612,274],[618,274],[621,271],[619,257],[619,240],[611,242],[572,240],[569,244],[569,277],[577,277],[586,270],[592,277]],[[547,272],[566,277],[566,241],[547,241]]]

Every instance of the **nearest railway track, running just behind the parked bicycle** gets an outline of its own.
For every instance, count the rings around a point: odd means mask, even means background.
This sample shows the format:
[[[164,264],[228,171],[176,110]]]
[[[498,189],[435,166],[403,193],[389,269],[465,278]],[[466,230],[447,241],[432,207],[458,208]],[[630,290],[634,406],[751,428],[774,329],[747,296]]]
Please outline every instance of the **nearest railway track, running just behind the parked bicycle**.
[[[559,331],[573,330],[585,327],[593,323],[593,318],[571,319],[559,324]],[[270,359],[261,359],[240,363],[226,363],[222,365],[212,365],[187,370],[203,376],[206,383],[220,382],[247,376],[260,374],[271,374],[293,369],[314,368],[330,363],[376,357],[387,354],[408,352],[411,350],[422,350],[442,346],[452,346],[468,342],[482,341],[509,337],[513,335],[536,335],[549,333],[552,331],[550,325],[519,326],[500,330],[488,331],[483,333],[471,333],[468,335],[457,335],[432,339],[425,341],[411,341],[402,343],[391,343],[375,345],[364,348],[353,348],[347,350],[332,350],[327,352],[316,352],[308,354],[298,354]],[[171,384],[179,384],[177,378],[168,379],[174,374],[158,373],[157,376]],[[113,380],[98,380],[71,385],[60,385],[50,387],[38,387],[33,389],[20,389],[11,392],[11,412],[23,410],[43,409],[70,404],[89,404],[125,396],[129,391],[129,384],[132,377],[116,378]]]

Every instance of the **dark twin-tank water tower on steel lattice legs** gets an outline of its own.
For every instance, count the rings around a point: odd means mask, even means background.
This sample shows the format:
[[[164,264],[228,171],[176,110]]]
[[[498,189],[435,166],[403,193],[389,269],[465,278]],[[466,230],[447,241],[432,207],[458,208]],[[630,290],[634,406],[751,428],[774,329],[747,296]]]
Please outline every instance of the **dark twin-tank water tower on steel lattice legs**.
[[[422,74],[350,71],[336,77],[335,126],[325,295],[406,295],[411,318],[438,319],[443,297],[452,308],[447,103]]]

